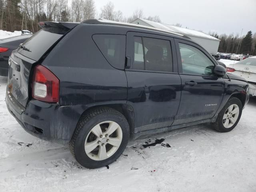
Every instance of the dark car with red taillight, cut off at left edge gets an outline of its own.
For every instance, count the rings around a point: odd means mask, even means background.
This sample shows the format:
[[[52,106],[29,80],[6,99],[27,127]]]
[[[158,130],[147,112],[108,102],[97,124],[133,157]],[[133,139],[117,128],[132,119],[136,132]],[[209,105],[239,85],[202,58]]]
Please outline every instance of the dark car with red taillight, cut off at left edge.
[[[12,51],[17,49],[19,44],[30,38],[31,35],[20,35],[0,39],[0,76],[8,76],[8,60]]]

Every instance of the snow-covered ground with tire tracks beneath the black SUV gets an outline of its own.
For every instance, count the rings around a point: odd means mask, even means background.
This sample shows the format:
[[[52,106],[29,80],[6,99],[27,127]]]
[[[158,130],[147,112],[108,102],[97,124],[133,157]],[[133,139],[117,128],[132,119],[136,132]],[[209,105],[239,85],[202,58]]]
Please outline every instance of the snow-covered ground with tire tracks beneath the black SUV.
[[[109,169],[90,170],[82,168],[67,147],[22,129],[6,109],[6,83],[7,78],[0,77],[1,192],[256,191],[255,98],[231,132],[202,124],[130,141]],[[164,141],[142,146],[156,138]]]

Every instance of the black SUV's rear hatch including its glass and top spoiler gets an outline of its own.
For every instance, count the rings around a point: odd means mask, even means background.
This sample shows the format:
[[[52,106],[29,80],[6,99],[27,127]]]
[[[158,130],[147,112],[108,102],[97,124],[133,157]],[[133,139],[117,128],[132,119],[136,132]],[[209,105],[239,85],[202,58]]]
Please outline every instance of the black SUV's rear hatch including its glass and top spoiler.
[[[14,50],[9,58],[7,93],[24,107],[31,95],[29,81],[33,66],[70,30],[61,23],[41,22],[41,25],[43,28]]]

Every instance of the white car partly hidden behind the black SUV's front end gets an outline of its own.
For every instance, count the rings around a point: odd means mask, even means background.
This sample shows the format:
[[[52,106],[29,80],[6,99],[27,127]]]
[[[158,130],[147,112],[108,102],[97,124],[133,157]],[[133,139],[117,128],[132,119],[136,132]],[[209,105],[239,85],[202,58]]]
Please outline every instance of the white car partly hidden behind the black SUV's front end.
[[[227,72],[245,78],[249,83],[249,93],[256,96],[256,56],[230,64]]]

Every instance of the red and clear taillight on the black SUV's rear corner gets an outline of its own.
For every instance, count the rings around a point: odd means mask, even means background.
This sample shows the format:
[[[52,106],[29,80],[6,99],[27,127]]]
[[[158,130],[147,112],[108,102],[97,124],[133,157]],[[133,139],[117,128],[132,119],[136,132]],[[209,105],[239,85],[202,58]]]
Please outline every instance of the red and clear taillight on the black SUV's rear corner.
[[[32,97],[45,102],[59,101],[60,80],[46,67],[38,65],[34,69]]]

